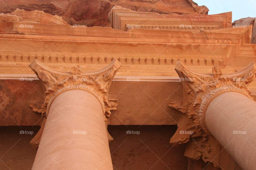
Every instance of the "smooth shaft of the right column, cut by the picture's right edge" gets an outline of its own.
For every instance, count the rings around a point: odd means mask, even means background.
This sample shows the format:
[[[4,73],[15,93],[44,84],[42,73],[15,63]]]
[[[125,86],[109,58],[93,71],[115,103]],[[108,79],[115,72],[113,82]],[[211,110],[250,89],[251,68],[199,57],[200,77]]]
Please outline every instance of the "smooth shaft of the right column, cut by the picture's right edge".
[[[244,170],[256,169],[256,102],[238,92],[213,99],[205,114],[209,132]]]

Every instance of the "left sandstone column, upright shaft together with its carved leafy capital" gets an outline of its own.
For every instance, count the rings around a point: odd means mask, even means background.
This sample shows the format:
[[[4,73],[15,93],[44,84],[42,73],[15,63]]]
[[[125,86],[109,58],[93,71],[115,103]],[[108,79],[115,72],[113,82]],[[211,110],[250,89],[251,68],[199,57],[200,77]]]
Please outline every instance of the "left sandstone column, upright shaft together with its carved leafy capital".
[[[43,104],[30,104],[44,116],[41,129],[31,140],[32,146],[38,147],[33,170],[113,169],[106,120],[117,103],[107,96],[120,66],[113,61],[102,70],[85,72],[73,67],[68,72],[37,60],[30,64],[45,90]]]

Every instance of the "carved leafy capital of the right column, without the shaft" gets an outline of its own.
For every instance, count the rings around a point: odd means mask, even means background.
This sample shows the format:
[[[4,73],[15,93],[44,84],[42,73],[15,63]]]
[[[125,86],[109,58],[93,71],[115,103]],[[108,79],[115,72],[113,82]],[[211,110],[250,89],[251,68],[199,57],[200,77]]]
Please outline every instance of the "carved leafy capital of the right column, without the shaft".
[[[202,158],[219,167],[221,146],[205,126],[206,109],[211,100],[225,92],[235,91],[253,99],[247,86],[255,78],[256,65],[252,62],[244,69],[229,74],[223,74],[218,66],[214,66],[212,74],[205,74],[190,70],[178,61],[175,71],[181,80],[183,100],[181,104],[169,103],[169,106],[184,114],[170,143],[177,146],[188,142],[185,156]]]

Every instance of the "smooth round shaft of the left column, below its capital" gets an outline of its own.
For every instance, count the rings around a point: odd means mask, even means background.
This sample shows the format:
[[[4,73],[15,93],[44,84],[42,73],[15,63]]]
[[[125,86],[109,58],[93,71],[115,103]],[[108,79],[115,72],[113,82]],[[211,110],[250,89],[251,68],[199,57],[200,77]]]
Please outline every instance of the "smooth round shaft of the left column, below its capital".
[[[99,100],[83,90],[53,101],[32,170],[113,170]]]

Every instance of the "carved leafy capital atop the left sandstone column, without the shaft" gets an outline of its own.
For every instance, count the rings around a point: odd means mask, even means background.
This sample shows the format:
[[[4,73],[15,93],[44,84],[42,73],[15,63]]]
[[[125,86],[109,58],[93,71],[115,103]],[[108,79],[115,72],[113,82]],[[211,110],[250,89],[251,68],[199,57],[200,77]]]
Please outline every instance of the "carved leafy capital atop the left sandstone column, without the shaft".
[[[72,89],[85,90],[93,94],[100,101],[105,117],[105,122],[111,114],[111,110],[117,109],[117,100],[108,99],[110,85],[122,64],[114,60],[108,66],[96,71],[81,71],[77,66],[70,71],[59,71],[52,69],[38,60],[34,60],[29,65],[39,78],[44,93],[45,101],[42,103],[30,103],[30,107],[35,112],[42,113],[44,122],[39,133],[30,141],[35,148],[41,139],[43,125],[53,100],[61,93]],[[109,135],[109,134],[108,134]],[[109,139],[111,139],[109,135]]]

